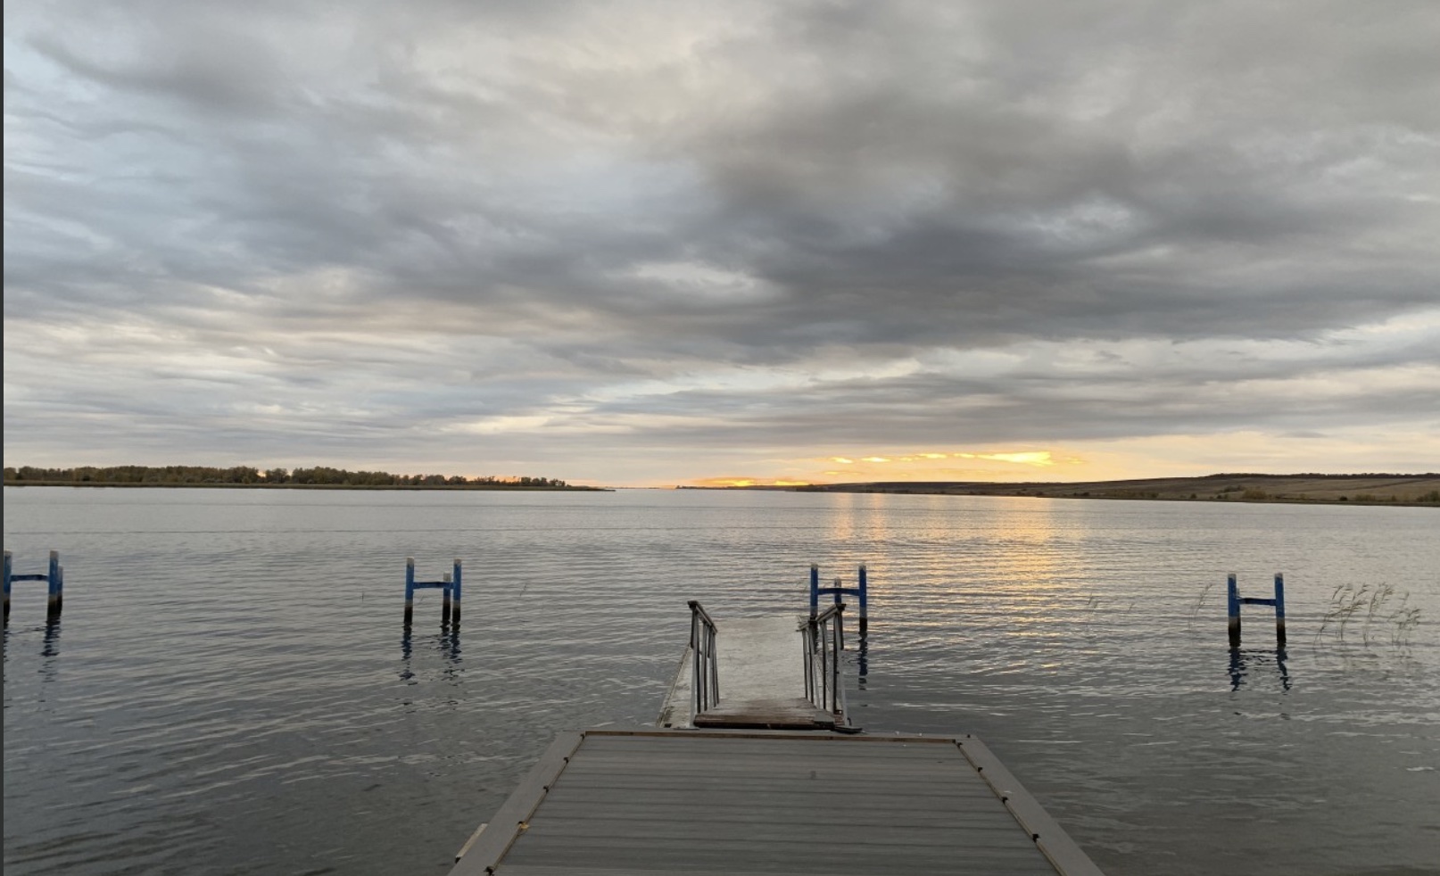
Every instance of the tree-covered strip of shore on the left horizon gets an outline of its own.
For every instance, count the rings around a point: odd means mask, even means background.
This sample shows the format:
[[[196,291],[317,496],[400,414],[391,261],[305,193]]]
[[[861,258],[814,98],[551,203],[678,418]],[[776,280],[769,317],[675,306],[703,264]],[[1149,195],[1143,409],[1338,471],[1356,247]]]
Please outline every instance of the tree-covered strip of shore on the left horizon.
[[[4,468],[6,487],[251,487],[269,490],[580,490],[553,477],[465,477],[462,474],[392,474],[314,468],[252,468],[232,465],[79,465],[76,468]]]

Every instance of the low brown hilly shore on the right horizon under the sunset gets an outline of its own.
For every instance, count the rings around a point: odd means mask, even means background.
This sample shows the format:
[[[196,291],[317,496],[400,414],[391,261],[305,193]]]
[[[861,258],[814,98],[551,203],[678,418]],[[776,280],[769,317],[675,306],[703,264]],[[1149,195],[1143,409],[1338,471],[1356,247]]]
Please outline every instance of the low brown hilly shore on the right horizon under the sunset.
[[[1032,496],[1440,507],[1440,474],[1210,474],[1122,481],[870,481],[851,484],[683,487],[788,493],[907,493],[922,496]]]

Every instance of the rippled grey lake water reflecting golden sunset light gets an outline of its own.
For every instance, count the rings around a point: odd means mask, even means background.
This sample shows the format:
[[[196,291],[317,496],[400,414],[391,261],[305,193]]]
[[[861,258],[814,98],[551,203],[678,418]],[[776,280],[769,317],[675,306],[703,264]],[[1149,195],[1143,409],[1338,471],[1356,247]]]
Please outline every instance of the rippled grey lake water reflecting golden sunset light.
[[[867,730],[973,732],[1112,876],[1440,873],[1428,509],[786,493],[6,488],[4,872],[444,873],[559,729],[654,720],[688,634],[871,578]],[[405,558],[465,559],[402,635]],[[1224,575],[1286,573],[1225,641]],[[1338,586],[1392,586],[1344,638]],[[1401,596],[1420,624],[1395,621]],[[863,666],[861,666],[863,663]],[[864,670],[861,676],[860,671]],[[840,807],[865,805],[838,800]]]

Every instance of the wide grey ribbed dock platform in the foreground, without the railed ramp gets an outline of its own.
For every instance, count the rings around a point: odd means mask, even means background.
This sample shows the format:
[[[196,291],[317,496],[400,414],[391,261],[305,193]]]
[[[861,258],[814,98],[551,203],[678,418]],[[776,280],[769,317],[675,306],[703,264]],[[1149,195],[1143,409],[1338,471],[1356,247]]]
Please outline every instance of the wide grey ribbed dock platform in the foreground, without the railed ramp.
[[[1097,876],[972,738],[562,735],[452,876]]]

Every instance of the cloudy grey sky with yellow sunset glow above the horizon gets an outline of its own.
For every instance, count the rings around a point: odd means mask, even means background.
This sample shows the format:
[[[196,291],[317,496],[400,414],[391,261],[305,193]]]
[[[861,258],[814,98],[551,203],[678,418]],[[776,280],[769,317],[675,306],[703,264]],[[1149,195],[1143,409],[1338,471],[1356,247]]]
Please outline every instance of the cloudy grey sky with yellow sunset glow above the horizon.
[[[4,462],[1440,470],[1440,4],[4,4]]]

